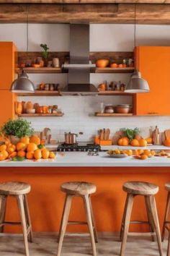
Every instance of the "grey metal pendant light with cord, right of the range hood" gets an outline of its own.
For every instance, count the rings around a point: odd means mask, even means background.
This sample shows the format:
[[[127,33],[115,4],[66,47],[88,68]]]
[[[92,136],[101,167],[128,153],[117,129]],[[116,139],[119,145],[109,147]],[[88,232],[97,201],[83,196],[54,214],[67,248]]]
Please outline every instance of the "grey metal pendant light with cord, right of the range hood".
[[[134,46],[136,39],[136,4],[135,4],[135,22],[134,22]],[[148,82],[144,80],[138,69],[135,69],[130,77],[128,85],[125,87],[125,93],[148,93],[150,91]]]

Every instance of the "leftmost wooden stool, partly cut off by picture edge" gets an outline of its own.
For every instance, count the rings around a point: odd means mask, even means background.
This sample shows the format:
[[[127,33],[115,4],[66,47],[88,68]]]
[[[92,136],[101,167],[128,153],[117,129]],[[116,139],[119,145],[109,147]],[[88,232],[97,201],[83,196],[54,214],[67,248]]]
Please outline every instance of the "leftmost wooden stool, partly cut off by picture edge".
[[[4,182],[0,183],[0,232],[4,231],[4,225],[22,225],[24,236],[25,255],[29,256],[27,239],[32,242],[32,226],[27,203],[27,193],[30,192],[30,184],[24,182]],[[21,222],[5,221],[6,199],[8,196],[17,198]]]

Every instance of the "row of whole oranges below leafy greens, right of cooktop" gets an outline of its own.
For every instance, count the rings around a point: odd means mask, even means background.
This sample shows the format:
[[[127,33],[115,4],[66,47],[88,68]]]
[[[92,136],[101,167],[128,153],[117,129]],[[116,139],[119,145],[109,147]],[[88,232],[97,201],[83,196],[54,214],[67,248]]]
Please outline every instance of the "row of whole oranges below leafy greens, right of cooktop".
[[[142,139],[140,138],[138,139],[133,139],[133,140],[129,140],[128,137],[122,137],[118,140],[117,144],[120,146],[128,146],[131,145],[133,147],[146,147],[147,144],[151,144],[152,139],[148,138],[148,139]]]

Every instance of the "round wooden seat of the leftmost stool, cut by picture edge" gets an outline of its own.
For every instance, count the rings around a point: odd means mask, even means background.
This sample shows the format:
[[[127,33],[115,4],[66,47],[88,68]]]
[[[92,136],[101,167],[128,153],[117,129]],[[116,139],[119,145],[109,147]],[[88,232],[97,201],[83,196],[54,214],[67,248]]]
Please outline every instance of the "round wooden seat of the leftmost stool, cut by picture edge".
[[[0,183],[0,195],[24,195],[31,190],[30,184],[24,182]]]

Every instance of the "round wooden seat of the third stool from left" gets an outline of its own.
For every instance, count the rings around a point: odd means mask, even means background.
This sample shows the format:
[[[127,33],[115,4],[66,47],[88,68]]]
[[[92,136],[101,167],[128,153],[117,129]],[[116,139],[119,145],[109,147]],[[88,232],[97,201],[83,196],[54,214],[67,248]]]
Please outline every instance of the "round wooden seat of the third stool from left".
[[[158,192],[158,186],[148,182],[125,182],[122,189],[133,195],[155,195]]]

